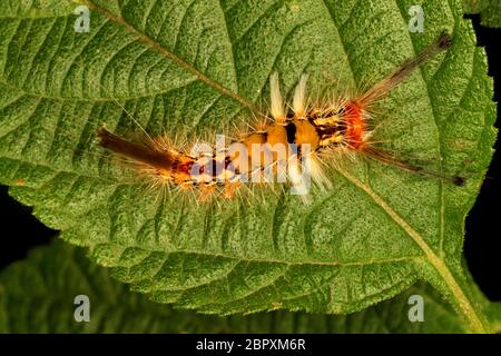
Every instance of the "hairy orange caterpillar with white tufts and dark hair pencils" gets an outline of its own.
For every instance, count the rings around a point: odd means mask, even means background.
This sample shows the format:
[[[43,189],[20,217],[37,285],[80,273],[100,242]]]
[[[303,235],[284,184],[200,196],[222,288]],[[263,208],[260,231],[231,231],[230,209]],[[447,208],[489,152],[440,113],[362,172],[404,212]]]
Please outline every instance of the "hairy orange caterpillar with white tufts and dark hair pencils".
[[[328,189],[331,181],[321,156],[362,155],[406,171],[442,179],[456,186],[460,176],[444,176],[410,164],[372,141],[372,106],[403,82],[423,62],[445,51],[452,37],[443,31],[422,52],[403,62],[362,95],[338,98],[334,102],[311,105],[306,95],[307,76],[295,88],[289,109],[279,89],[278,75],[269,78],[269,113],[259,129],[245,132],[229,145],[186,152],[169,145],[166,138],[130,141],[105,127],[98,130],[99,145],[126,157],[148,177],[180,189],[197,189],[204,199],[219,191],[233,198],[245,184],[278,181],[291,186],[293,194],[307,200],[310,181]],[[332,155],[331,155],[332,157]],[[335,158],[332,158],[335,159]]]

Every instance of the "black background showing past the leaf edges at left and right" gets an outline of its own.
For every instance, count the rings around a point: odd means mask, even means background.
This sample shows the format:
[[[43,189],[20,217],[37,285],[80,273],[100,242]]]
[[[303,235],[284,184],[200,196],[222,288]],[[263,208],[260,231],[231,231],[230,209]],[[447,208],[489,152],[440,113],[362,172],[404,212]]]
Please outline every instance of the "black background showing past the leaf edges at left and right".
[[[469,16],[475,27],[479,46],[484,46],[489,58],[489,75],[494,77],[494,100],[500,101],[501,29],[480,26],[478,16]],[[498,112],[500,112],[498,103]],[[499,115],[498,122],[499,127]],[[498,149],[499,144],[495,144]],[[500,155],[497,150],[483,182],[480,196],[466,218],[464,255],[473,279],[491,300],[501,300],[501,234],[498,206],[500,192]],[[6,265],[22,259],[35,246],[45,245],[57,234],[31,215],[31,208],[21,206],[0,186],[0,270]]]

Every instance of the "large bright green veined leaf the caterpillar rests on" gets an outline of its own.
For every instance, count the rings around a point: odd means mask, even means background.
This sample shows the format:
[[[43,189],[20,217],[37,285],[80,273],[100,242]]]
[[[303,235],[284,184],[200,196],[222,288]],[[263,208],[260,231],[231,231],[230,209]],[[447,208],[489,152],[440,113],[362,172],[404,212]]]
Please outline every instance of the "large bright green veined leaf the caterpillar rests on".
[[[33,16],[0,1],[0,181],[132,289],[213,314],[345,314],[421,279],[472,332],[489,330],[461,250],[492,156],[495,108],[460,1],[428,1],[423,33],[409,32],[414,3],[404,0],[85,1],[89,33],[75,32],[66,8]],[[263,198],[197,205],[145,191],[95,142],[102,123],[136,128],[127,112],[151,135],[228,132],[252,121],[249,102],[267,100],[273,71],[285,92],[301,72],[314,93],[325,82],[353,89],[443,29],[453,48],[381,103],[377,138],[468,176],[465,187],[361,159],[333,171],[334,188],[308,206],[266,189]]]

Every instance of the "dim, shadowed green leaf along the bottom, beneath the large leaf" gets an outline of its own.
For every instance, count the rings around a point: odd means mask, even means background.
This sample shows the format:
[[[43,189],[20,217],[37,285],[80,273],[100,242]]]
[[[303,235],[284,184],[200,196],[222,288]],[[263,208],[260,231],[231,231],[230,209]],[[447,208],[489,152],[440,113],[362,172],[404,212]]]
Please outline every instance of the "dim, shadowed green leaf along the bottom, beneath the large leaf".
[[[89,323],[73,317],[75,297],[89,297]],[[424,322],[411,323],[409,296],[424,300]],[[80,304],[78,304],[80,305]],[[0,333],[463,333],[461,319],[424,284],[348,316],[284,310],[204,316],[129,293],[82,249],[61,241],[32,250],[0,274]]]

